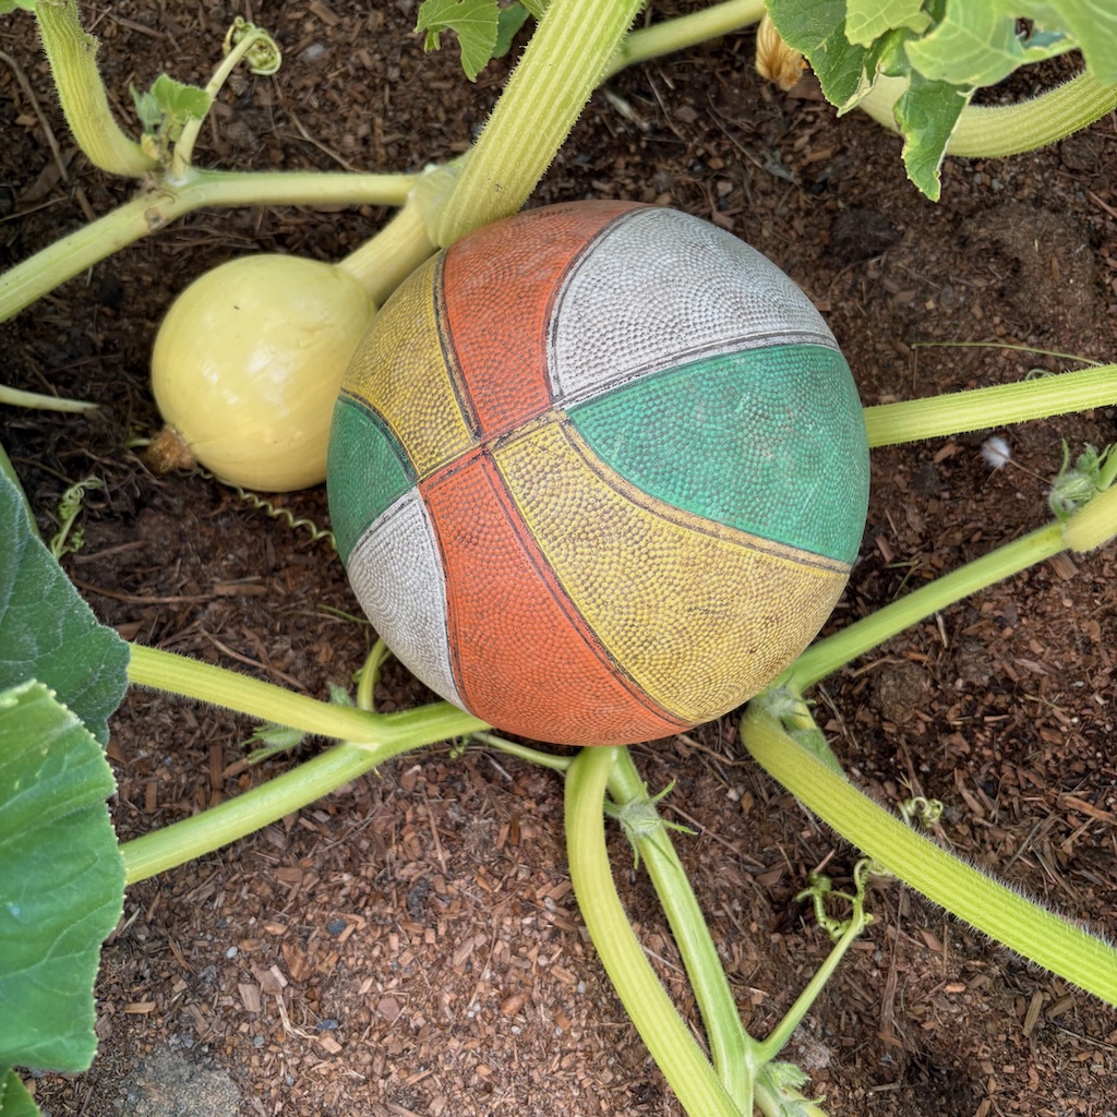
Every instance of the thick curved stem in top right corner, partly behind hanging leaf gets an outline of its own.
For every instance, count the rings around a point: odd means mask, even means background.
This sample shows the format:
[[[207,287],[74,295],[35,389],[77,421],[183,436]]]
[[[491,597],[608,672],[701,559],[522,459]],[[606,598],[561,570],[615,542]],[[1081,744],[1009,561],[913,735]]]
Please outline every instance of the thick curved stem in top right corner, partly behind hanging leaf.
[[[892,106],[906,88],[905,78],[878,77],[857,107],[895,131]],[[1085,128],[1115,107],[1117,86],[1080,74],[1066,85],[1015,105],[967,105],[946,144],[946,153],[997,159],[1035,151]]]

